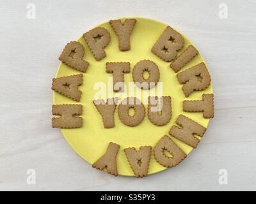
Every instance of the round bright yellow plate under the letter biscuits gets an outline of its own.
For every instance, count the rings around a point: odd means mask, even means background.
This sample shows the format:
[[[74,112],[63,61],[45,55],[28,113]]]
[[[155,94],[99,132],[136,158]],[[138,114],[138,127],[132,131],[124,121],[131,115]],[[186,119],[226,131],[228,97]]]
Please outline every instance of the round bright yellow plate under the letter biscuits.
[[[164,62],[150,51],[167,25],[147,18],[136,18],[136,20],[137,23],[134,26],[131,34],[131,50],[126,52],[120,52],[118,50],[118,40],[108,22],[98,25],[106,28],[111,35],[111,41],[108,47],[105,48],[107,57],[99,62],[95,61],[84,39],[81,37],[79,40],[77,40],[84,46],[84,60],[90,62],[88,70],[83,75],[83,85],[79,87],[79,89],[83,92],[81,101],[79,103],[76,103],[76,101],[68,99],[67,97],[56,92],[53,93],[53,101],[56,105],[83,105],[83,128],[61,129],[63,136],[65,136],[67,142],[77,152],[77,154],[88,161],[88,163],[92,164],[97,161],[102,154],[104,154],[109,142],[118,143],[120,145],[120,150],[117,156],[118,174],[126,176],[134,176],[134,173],[129,166],[123,150],[127,147],[136,147],[136,149],[138,149],[138,147],[141,145],[150,145],[154,147],[162,136],[168,135],[168,131],[173,124],[175,124],[175,120],[180,114],[184,114],[199,124],[202,124],[202,126],[207,127],[209,119],[204,119],[202,117],[202,113],[182,112],[182,101],[184,99],[202,99],[203,93],[212,93],[211,83],[211,85],[204,91],[193,92],[189,98],[186,98],[182,92],[182,85],[180,85],[177,80],[176,73],[170,68],[170,62]],[[172,25],[170,26],[172,27]],[[191,41],[186,38],[186,36],[183,34],[182,36],[184,37],[185,44],[184,48],[178,52],[178,55],[183,52],[188,45],[193,45]],[[108,85],[108,78],[112,77],[112,75],[106,73],[106,62],[123,61],[131,63],[131,72],[124,74],[124,82],[128,87],[128,82],[132,82],[132,69],[134,65],[143,59],[150,59],[154,61],[157,66],[159,66],[159,81],[163,82],[163,96],[172,97],[172,119],[165,126],[158,127],[148,120],[146,113],[143,122],[141,122],[140,125],[131,128],[122,124],[118,118],[118,113],[116,110],[115,128],[105,129],[103,127],[102,118],[93,105],[92,100],[93,95],[99,91],[93,89],[93,86],[97,82],[103,82],[107,85],[107,90],[113,90],[113,85]],[[202,55],[198,54],[195,59],[189,62],[184,68],[182,68],[181,71],[184,71],[185,69],[200,62],[204,62],[204,59]],[[79,71],[60,63],[56,77],[65,77],[78,73]],[[144,91],[143,93],[147,94],[147,91]],[[145,105],[145,108],[147,108],[147,105]],[[189,147],[185,143],[180,142],[172,136],[171,138],[186,154],[189,154],[189,152],[193,150],[192,147]],[[200,148],[200,145],[198,148]],[[164,166],[157,163],[153,155],[150,157],[148,174],[157,173],[165,169],[166,168]]]

